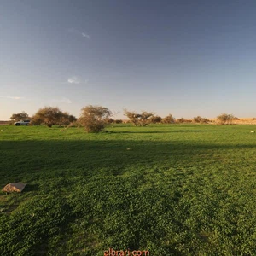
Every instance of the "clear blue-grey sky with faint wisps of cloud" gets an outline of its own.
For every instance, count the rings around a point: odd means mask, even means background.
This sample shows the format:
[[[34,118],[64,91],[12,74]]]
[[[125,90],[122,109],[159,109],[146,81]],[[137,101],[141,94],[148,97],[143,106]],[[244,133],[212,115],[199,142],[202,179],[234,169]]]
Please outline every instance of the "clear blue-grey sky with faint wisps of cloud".
[[[87,105],[256,117],[256,1],[0,0],[0,120]]]

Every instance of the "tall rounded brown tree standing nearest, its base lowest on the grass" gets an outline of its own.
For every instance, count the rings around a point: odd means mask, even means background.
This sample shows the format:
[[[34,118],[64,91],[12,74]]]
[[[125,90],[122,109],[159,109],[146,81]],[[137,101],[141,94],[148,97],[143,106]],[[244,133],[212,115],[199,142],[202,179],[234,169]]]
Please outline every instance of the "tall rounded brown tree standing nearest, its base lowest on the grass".
[[[81,109],[82,113],[79,123],[84,126],[88,132],[100,132],[108,124],[112,112],[102,106],[86,106]]]

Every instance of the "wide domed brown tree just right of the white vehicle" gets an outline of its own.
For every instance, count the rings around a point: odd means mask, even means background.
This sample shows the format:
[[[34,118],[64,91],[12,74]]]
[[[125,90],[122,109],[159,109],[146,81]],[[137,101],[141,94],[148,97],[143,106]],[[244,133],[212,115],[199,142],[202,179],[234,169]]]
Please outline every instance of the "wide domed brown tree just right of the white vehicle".
[[[67,112],[62,112],[57,107],[40,108],[37,113],[32,116],[31,125],[69,125],[76,118]]]

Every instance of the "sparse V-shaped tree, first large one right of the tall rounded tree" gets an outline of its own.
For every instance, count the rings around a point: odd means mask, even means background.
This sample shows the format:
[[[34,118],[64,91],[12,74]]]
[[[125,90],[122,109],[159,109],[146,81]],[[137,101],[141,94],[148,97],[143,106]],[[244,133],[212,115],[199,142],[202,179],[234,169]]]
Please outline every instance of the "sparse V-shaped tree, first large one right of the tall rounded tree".
[[[154,117],[154,113],[146,111],[135,113],[125,109],[124,114],[135,126],[146,126],[151,123],[151,119]]]

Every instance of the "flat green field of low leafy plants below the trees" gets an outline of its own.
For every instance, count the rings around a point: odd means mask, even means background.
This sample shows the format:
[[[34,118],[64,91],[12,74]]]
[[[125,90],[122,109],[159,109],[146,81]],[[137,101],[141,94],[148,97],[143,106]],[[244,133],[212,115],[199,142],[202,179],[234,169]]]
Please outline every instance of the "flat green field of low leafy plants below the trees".
[[[0,128],[1,255],[256,255],[253,125]]]

